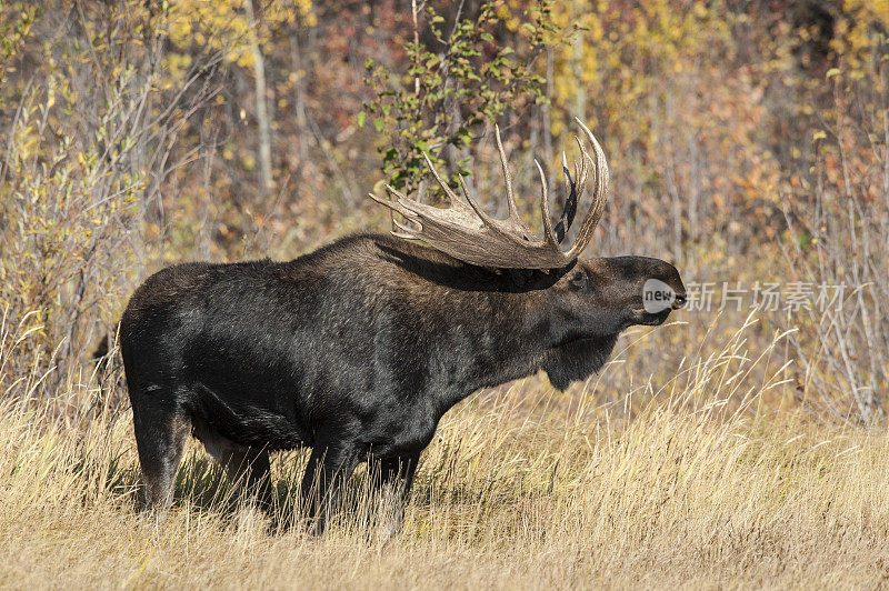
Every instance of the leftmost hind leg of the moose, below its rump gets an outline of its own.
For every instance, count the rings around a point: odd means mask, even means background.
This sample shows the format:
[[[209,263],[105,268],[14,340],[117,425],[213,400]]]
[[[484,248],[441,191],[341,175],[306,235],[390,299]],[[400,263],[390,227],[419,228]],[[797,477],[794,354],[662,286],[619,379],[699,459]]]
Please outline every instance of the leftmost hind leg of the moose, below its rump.
[[[133,404],[133,429],[146,484],[146,508],[166,511],[173,501],[173,485],[191,421],[160,401]]]

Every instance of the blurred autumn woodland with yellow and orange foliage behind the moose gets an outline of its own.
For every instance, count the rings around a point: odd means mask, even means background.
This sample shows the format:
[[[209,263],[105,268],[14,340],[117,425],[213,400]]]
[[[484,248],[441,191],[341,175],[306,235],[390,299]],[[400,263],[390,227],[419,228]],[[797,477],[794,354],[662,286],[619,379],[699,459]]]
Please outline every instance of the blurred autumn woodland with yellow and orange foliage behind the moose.
[[[386,232],[369,191],[438,199],[422,151],[502,216],[495,123],[540,228],[533,159],[562,199],[579,117],[612,178],[587,256],[666,259],[692,302],[563,403],[631,415],[740,340],[776,410],[878,425],[888,28],[886,0],[0,2],[0,393],[123,405],[92,354],[141,280]]]

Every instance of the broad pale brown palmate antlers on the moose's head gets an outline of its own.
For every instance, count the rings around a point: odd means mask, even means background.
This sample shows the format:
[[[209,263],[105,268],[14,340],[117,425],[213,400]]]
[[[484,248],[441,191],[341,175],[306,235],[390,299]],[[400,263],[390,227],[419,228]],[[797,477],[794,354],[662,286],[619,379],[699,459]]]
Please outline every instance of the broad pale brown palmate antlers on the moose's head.
[[[489,217],[469,194],[462,177],[460,177],[460,188],[466,202],[458,198],[448,183],[441,179],[426,153],[423,153],[426,164],[448,196],[449,207],[436,208],[419,203],[388,184],[386,189],[394,199],[382,199],[373,193],[370,193],[370,198],[404,217],[406,222],[393,219],[393,223],[400,231],[392,231],[392,234],[404,239],[422,240],[430,247],[461,261],[480,267],[503,269],[560,269],[577,259],[587,247],[592,238],[592,231],[602,217],[608,199],[608,162],[606,162],[602,148],[587,126],[580,119],[575,118],[575,120],[590,140],[596,160],[593,161],[587,152],[580,138],[577,138],[581,159],[579,163],[575,162],[575,179],[571,179],[568,162],[562,153],[562,171],[566,177],[568,196],[555,231],[549,214],[547,178],[540,163],[535,160],[540,173],[542,193],[540,201],[540,214],[543,221],[542,240],[536,238],[531,229],[519,217],[512,193],[512,177],[503,153],[503,144],[500,141],[500,129],[497,127],[495,128],[497,149],[503,166],[503,180],[507,184],[507,202],[509,204],[507,219],[495,220]],[[596,179],[592,206],[587,218],[580,224],[577,240],[568,252],[563,252],[559,248],[559,243],[568,234],[575,219],[578,198],[587,182],[590,163],[593,164],[592,173]]]

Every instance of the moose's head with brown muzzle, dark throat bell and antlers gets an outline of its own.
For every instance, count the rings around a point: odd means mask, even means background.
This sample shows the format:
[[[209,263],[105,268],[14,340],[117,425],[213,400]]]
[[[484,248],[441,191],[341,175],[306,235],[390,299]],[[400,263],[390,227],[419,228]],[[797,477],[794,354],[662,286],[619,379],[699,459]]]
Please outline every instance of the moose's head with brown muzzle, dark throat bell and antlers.
[[[592,239],[608,201],[609,171],[601,146],[582,121],[576,119],[592,147],[593,156],[577,138],[581,158],[575,162],[573,177],[562,152],[565,173],[565,209],[553,226],[546,174],[535,160],[540,174],[540,217],[543,236],[537,237],[519,216],[500,129],[496,130],[497,148],[506,182],[509,216],[493,219],[469,192],[460,177],[461,199],[423,153],[427,167],[448,199],[447,208],[420,203],[389,184],[391,199],[370,198],[399,213],[393,218],[397,230],[391,233],[406,240],[422,240],[430,247],[466,263],[488,269],[522,270],[529,290],[543,290],[537,297],[549,320],[551,343],[541,363],[553,385],[565,388],[572,380],[585,379],[598,370],[613,347],[617,335],[633,324],[657,325],[671,310],[686,302],[686,289],[677,269],[662,260],[648,257],[579,259]],[[592,203],[580,224],[577,238],[567,250],[568,237],[578,210],[579,197],[591,179]],[[538,294],[539,296],[539,294]],[[607,350],[607,351],[606,351]]]

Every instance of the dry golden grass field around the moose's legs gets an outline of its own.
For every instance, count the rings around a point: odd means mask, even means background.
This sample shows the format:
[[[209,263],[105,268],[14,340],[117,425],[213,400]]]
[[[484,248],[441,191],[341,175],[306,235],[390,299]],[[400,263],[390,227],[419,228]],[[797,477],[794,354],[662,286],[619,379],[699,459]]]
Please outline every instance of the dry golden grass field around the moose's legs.
[[[156,522],[136,511],[129,417],[78,427],[7,405],[0,584],[886,585],[889,437],[757,410],[782,368],[748,353],[745,330],[628,420],[593,403],[595,380],[570,397],[537,379],[476,395],[446,417],[388,543],[348,514],[312,539],[226,500],[197,445]],[[298,464],[273,464],[281,500]]]

